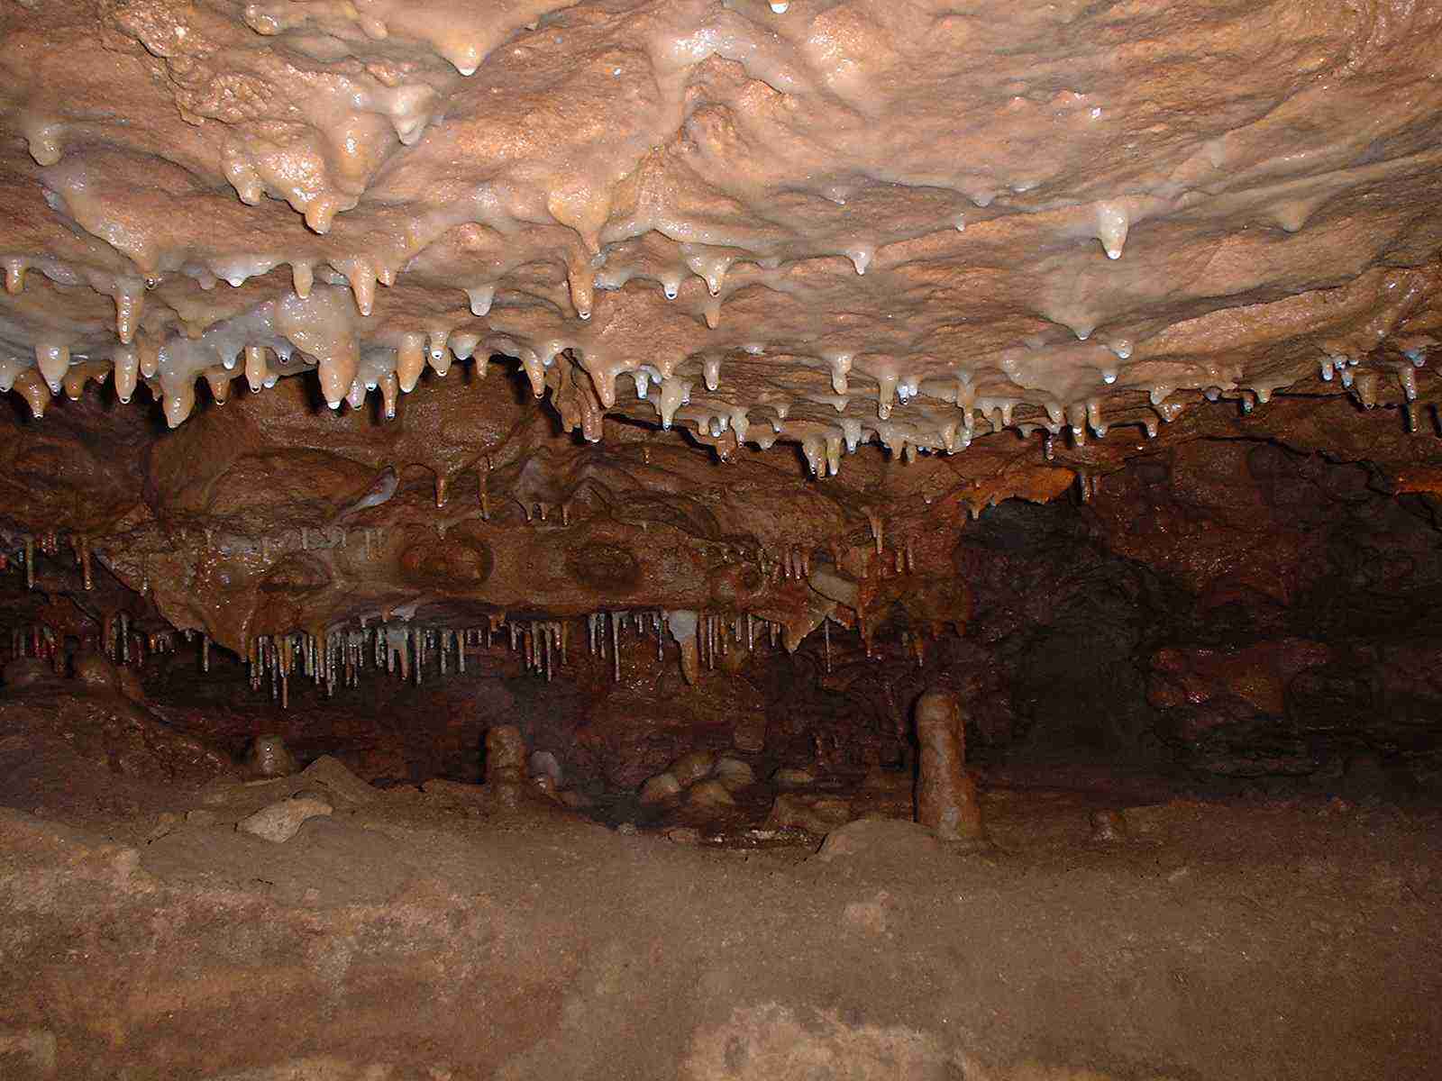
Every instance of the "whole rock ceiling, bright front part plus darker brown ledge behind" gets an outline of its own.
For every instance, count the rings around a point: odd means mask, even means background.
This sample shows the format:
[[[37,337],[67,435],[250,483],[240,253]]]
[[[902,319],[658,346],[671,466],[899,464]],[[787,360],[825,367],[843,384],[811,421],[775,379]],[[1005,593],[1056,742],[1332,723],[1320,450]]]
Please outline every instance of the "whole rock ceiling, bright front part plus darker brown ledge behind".
[[[665,610],[694,669],[692,613],[702,651],[962,627],[970,517],[1187,441],[1430,493],[1439,39],[1403,0],[4,0],[6,548],[74,548],[39,585],[117,650],[123,611],[255,657]],[[1236,569],[1125,507],[1191,588]]]

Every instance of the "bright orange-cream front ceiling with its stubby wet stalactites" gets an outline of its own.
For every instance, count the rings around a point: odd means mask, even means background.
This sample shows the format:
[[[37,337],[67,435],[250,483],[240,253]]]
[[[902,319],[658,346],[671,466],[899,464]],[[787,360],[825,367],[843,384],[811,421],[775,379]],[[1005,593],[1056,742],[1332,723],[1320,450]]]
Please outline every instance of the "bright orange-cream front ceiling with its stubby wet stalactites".
[[[1439,35],[1402,0],[7,4],[0,388],[143,382],[177,425],[316,372],[389,415],[505,355],[587,438],[818,476],[1400,402]]]

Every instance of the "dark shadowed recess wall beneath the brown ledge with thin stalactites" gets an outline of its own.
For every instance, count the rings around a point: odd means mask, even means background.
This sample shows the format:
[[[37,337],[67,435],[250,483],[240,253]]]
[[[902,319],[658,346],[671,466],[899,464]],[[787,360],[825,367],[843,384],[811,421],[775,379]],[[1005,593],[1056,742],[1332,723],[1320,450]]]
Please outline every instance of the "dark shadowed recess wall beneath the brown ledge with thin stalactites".
[[[968,705],[982,765],[1112,764],[1223,788],[1337,788],[1366,767],[1416,790],[1438,783],[1442,731],[1433,513],[1366,464],[1198,440],[1132,458],[1086,503],[1007,500],[962,528],[950,561],[972,591],[965,636],[934,634],[914,617],[924,605],[897,601],[870,656],[835,624],[829,650],[815,631],[795,654],[758,630],[754,651],[730,646],[692,688],[675,644],[658,660],[633,630],[616,680],[577,621],[552,682],[502,631],[466,676],[369,676],[332,699],[297,680],[288,711],[221,650],[208,676],[195,644],[143,676],[154,712],[232,754],[275,731],[301,758],[335,752],[397,783],[477,780],[485,729],[502,719],[593,787],[634,787],[679,754],[728,747],[767,768],[908,767],[911,706],[945,685]],[[16,568],[0,579],[12,624],[49,621],[75,647],[87,594],[74,553],[39,566],[39,592]],[[95,575],[114,607],[124,587]]]

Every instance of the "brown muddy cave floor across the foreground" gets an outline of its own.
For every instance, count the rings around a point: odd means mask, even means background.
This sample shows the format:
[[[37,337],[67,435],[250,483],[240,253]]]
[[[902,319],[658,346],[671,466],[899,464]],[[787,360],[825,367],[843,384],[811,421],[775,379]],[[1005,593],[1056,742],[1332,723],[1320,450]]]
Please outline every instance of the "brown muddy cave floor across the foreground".
[[[836,774],[810,791],[858,822],[822,845],[767,827],[767,781],[665,813],[329,757],[159,781],[76,744],[78,700],[7,696],[4,1078],[1442,1071],[1432,800],[996,767],[968,852],[908,822],[901,773]],[[235,830],[297,793],[333,813]]]

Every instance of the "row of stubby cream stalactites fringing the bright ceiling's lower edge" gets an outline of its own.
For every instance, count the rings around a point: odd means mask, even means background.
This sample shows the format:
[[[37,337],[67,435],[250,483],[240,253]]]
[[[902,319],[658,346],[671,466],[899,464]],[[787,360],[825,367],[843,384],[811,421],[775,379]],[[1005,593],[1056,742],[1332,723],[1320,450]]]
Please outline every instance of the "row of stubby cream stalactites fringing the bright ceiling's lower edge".
[[[485,378],[493,353],[515,356],[536,396],[542,396],[549,386],[552,398],[558,398],[565,381],[548,373],[565,350],[572,350],[578,357],[575,363],[587,373],[581,378],[588,376],[594,386],[601,411],[617,408],[616,381],[624,372],[633,376],[636,401],[634,405],[620,402],[622,412],[645,415],[645,405],[649,405],[663,428],[673,424],[691,427],[698,438],[712,442],[722,457],[743,444],[767,450],[779,438],[787,438],[800,444],[816,477],[835,476],[844,455],[854,454],[870,442],[913,461],[917,454],[963,451],[981,434],[1011,428],[1024,437],[1041,432],[1050,457],[1051,440],[1056,437],[1080,445],[1089,435],[1103,438],[1112,427],[1103,415],[1103,402],[1105,395],[1116,389],[1118,365],[1107,360],[1097,362],[1097,392],[1070,402],[1045,396],[1028,402],[1019,388],[1009,395],[985,392],[978,388],[978,376],[966,369],[957,369],[955,378],[929,378],[897,368],[877,369],[871,372],[877,383],[872,419],[857,417],[851,411],[855,396],[851,386],[852,357],[848,353],[828,353],[808,360],[805,356],[795,356],[795,346],[777,343],[774,347],[793,355],[793,363],[829,369],[835,393],[808,393],[789,399],[773,393],[763,402],[735,405],[705,396],[707,391],[720,388],[722,355],[727,352],[724,349],[721,353],[692,357],[702,368],[702,391],[694,379],[684,378],[678,370],[685,363],[679,359],[655,363],[607,360],[590,347],[584,334],[575,342],[554,339],[532,347],[525,340],[492,332],[486,326],[435,326],[375,342],[366,337],[365,327],[352,310],[352,293],[353,287],[350,291],[342,285],[317,285],[311,290],[307,284],[303,295],[288,294],[267,301],[213,324],[195,339],[174,336],[159,342],[138,334],[131,342],[127,334],[108,356],[105,350],[82,355],[72,352],[63,342],[42,342],[35,346],[33,357],[0,356],[0,391],[14,389],[29,402],[33,414],[42,417],[52,395],[61,393],[62,388],[74,399],[79,398],[87,381],[101,382],[112,376],[117,396],[128,402],[137,379],[141,379],[162,404],[170,425],[176,427],[195,408],[195,383],[199,379],[206,381],[215,402],[224,405],[232,381],[242,375],[249,389],[260,392],[274,386],[281,376],[314,370],[332,408],[340,408],[342,402],[362,408],[368,393],[378,391],[382,415],[391,418],[395,417],[398,393],[414,389],[427,366],[444,376],[453,362],[470,360],[476,378]],[[489,313],[489,304],[486,311]],[[738,349],[753,356],[767,352],[767,346],[757,343]],[[1105,357],[1126,360],[1132,356],[1133,344],[1129,339],[1118,339],[1099,349]],[[1417,393],[1413,369],[1422,368],[1425,362],[1422,349],[1407,349],[1400,360],[1374,359],[1368,360],[1366,369],[1354,372],[1360,365],[1358,357],[1328,355],[1319,360],[1319,375],[1324,381],[1331,381],[1340,372],[1344,386],[1367,408],[1379,404],[1383,378],[1394,378],[1409,409],[1409,422],[1415,427],[1410,409]],[[1129,419],[1128,424],[1139,424],[1148,435],[1155,435],[1158,421],[1171,422],[1182,412],[1188,399],[1178,396],[1178,391],[1187,389],[1200,391],[1210,401],[1226,396],[1236,401],[1244,414],[1250,414],[1256,405],[1270,401],[1272,393],[1285,382],[1288,381],[1252,381],[1249,385],[1239,369],[1226,382],[1208,386],[1132,386],[1133,391],[1148,391],[1155,418]],[[815,417],[792,418],[799,402],[831,405],[839,415],[833,422]],[[919,408],[907,417],[893,419],[897,404],[911,402]],[[956,412],[946,406],[956,406]],[[559,399],[557,408],[562,417],[568,415]],[[1014,415],[1018,411],[1027,419]],[[600,414],[583,412],[587,438],[598,440]]]

